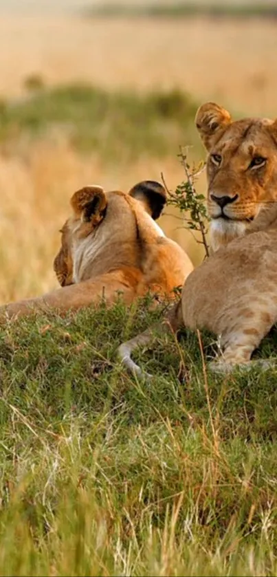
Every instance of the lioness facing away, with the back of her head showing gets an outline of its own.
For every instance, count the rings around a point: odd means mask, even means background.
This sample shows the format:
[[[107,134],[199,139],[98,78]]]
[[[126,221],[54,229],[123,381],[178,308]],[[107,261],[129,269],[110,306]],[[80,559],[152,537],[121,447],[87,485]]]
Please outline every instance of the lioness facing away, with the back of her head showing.
[[[139,182],[129,193],[85,186],[71,197],[72,216],[61,229],[54,271],[61,288],[0,307],[0,319],[56,309],[60,314],[122,295],[129,305],[151,292],[175,296],[193,269],[190,258],[166,238],[156,219],[166,204],[159,182]]]

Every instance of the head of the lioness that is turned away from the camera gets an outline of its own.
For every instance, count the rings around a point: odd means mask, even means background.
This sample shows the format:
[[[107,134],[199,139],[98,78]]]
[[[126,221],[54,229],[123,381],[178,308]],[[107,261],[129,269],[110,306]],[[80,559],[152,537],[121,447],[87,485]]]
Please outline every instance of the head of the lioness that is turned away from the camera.
[[[72,216],[61,228],[61,247],[54,271],[62,287],[103,274],[118,266],[137,267],[144,233],[160,237],[155,219],[166,203],[166,190],[146,180],[129,193],[104,192],[101,186],[85,186],[71,197]]]

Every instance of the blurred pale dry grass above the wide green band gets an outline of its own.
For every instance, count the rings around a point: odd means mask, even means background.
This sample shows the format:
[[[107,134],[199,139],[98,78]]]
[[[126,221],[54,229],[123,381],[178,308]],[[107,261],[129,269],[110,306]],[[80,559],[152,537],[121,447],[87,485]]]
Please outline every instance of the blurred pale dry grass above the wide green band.
[[[0,36],[0,94],[19,94],[39,72],[49,83],[180,87],[236,110],[276,111],[274,22],[3,17]]]

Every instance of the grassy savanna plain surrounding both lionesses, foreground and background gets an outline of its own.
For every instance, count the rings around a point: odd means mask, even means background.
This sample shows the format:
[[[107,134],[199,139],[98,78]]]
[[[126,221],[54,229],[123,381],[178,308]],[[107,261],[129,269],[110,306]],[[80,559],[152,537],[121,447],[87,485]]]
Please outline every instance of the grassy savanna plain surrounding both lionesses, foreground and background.
[[[276,32],[257,17],[3,15],[1,303],[57,287],[84,184],[163,173],[175,190],[179,146],[205,158],[201,102],[274,118]],[[201,262],[176,210],[159,224]],[[1,327],[1,575],[277,574],[276,369],[210,375],[209,335],[157,335],[138,382],[115,351],[162,317],[152,305]],[[272,331],[256,355],[275,350]]]

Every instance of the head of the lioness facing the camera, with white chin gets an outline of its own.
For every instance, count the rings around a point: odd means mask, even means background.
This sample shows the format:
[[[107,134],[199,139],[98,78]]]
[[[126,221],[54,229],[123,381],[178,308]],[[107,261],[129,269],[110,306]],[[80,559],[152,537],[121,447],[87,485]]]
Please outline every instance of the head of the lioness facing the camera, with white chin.
[[[244,118],[207,102],[195,123],[208,151],[208,213],[213,250],[277,217],[277,120]]]

